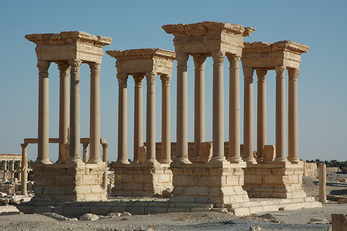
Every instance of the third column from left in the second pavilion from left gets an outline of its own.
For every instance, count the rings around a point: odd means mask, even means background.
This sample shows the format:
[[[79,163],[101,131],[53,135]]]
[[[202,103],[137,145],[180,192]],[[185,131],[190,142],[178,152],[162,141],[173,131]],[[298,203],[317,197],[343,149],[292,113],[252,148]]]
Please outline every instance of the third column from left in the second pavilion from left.
[[[146,160],[143,165],[159,164],[155,159],[155,79],[157,73],[146,72],[147,109],[146,109]]]

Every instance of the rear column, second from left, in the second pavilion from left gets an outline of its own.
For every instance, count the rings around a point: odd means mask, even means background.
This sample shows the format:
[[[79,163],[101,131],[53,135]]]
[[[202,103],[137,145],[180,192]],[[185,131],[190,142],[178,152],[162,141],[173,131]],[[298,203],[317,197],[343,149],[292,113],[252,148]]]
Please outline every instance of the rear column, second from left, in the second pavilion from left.
[[[143,145],[143,75],[134,75],[134,159],[132,164],[139,163],[139,147]]]

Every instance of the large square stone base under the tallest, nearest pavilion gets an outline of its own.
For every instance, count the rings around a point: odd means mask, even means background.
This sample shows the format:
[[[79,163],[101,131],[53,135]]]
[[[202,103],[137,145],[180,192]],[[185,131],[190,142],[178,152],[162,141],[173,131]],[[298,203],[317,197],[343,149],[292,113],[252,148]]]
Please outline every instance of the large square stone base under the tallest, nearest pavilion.
[[[229,162],[172,165],[172,197],[169,201],[224,204],[248,201],[242,189],[245,164]]]

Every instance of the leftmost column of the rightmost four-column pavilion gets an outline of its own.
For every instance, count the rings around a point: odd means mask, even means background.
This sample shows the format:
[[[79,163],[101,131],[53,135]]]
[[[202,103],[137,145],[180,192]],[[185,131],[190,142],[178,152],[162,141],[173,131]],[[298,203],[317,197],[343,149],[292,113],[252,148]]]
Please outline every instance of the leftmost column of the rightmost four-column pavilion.
[[[256,163],[253,157],[253,67],[243,67],[244,110],[243,110],[243,161]]]

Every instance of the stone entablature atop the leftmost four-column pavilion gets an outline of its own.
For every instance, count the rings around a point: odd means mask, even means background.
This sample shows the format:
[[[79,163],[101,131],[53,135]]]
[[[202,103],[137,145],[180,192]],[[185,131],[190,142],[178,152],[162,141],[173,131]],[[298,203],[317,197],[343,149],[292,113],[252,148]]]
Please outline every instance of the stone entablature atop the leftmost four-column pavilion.
[[[68,59],[101,62],[104,55],[103,47],[112,43],[109,37],[94,36],[82,31],[29,34],[25,38],[37,44],[35,49],[37,60],[59,63],[66,62]]]

